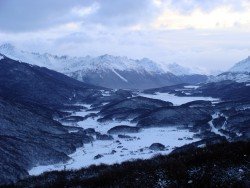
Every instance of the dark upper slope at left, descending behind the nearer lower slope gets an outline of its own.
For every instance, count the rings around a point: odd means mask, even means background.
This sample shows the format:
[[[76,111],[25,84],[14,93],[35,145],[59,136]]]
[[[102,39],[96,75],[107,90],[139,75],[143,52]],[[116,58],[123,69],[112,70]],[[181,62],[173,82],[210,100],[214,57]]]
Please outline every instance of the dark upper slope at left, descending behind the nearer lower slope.
[[[76,101],[91,102],[101,96],[100,89],[47,68],[7,57],[0,60],[0,96],[12,101],[59,107]]]

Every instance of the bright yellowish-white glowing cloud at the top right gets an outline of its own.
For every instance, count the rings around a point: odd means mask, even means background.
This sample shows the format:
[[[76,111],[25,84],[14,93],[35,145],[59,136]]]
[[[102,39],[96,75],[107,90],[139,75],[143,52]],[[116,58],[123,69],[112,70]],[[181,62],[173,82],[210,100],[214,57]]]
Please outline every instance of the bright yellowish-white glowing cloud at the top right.
[[[225,4],[225,1],[220,0],[186,0],[183,1],[184,4],[181,4],[181,7],[177,6],[178,9],[176,9],[176,4],[179,4],[174,2],[180,1],[173,1],[170,4],[171,6],[165,4],[163,14],[153,23],[155,29],[220,29],[237,27],[250,29],[250,4],[247,4],[247,2],[238,3],[242,6],[244,5],[244,9],[241,10],[237,10],[234,4]],[[201,4],[201,2],[204,2],[204,4]],[[186,4],[189,6],[186,6]]]

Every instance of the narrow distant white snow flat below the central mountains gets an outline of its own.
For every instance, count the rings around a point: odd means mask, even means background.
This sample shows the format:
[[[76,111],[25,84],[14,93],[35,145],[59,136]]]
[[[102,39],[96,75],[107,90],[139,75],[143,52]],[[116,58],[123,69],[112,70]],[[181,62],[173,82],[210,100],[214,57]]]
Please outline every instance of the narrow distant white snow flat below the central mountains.
[[[212,98],[212,97],[179,97],[176,96],[174,94],[169,94],[169,93],[155,93],[155,94],[144,94],[144,93],[140,93],[140,96],[143,97],[148,97],[148,98],[152,98],[152,99],[160,99],[163,101],[169,101],[171,103],[173,103],[174,105],[182,105],[185,104],[187,102],[191,102],[191,101],[195,101],[195,100],[206,100],[206,101],[218,101],[218,99],[216,98]]]

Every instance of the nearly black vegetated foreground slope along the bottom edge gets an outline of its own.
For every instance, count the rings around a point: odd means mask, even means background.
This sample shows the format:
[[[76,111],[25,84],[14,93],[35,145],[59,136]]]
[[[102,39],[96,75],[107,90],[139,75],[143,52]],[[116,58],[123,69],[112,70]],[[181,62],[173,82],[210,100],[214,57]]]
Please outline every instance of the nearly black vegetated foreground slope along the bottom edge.
[[[150,160],[47,172],[11,187],[249,187],[250,142],[193,148]]]

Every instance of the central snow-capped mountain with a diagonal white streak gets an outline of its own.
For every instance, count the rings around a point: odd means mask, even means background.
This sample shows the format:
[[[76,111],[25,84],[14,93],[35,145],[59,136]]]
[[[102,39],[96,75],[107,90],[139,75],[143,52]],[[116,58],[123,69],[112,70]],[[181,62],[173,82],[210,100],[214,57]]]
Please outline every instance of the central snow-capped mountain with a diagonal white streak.
[[[177,76],[164,72],[149,59],[131,60],[103,55],[84,61],[78,69],[64,73],[77,80],[109,88],[143,89],[181,82]]]

